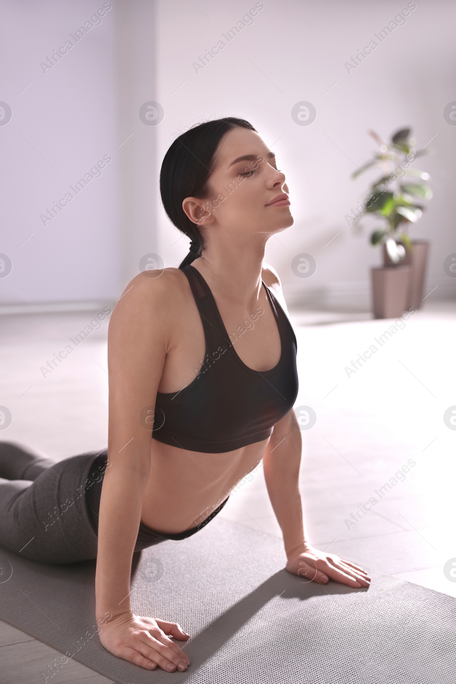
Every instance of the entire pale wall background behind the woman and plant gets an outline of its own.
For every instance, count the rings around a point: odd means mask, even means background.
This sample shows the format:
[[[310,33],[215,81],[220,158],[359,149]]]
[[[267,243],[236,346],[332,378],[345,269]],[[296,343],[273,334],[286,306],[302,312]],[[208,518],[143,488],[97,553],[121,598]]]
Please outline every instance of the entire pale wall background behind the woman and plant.
[[[0,126],[0,252],[10,256],[13,270],[0,278],[0,303],[65,308],[111,301],[144,254],[178,265],[187,241],[161,207],[161,160],[180,131],[226,115],[250,120],[286,173],[295,225],[280,242],[271,238],[267,260],[289,302],[336,303],[329,288],[346,304],[367,304],[368,267],[380,254],[368,245],[370,231],[354,235],[344,218],[375,178],[349,178],[375,148],[366,131],[388,137],[410,124],[418,144],[433,138],[435,155],[419,164],[431,173],[434,198],[414,235],[425,233],[435,243],[426,287],[438,288],[431,298],[455,296],[456,280],[442,269],[446,255],[456,252],[456,127],[442,114],[456,100],[454,3],[419,1],[405,25],[347,73],[345,62],[406,1],[265,0],[253,25],[196,73],[193,62],[254,1],[113,0],[102,23],[44,74],[40,62],[103,3],[48,0],[46,9],[34,0],[3,2],[7,30],[0,49],[8,70],[0,100],[13,116]],[[314,104],[317,118],[301,127],[291,108],[303,100]],[[157,126],[139,119],[148,101],[165,111]],[[40,214],[103,155],[112,157],[103,175],[44,226]],[[300,252],[317,260],[312,278],[291,272]]]

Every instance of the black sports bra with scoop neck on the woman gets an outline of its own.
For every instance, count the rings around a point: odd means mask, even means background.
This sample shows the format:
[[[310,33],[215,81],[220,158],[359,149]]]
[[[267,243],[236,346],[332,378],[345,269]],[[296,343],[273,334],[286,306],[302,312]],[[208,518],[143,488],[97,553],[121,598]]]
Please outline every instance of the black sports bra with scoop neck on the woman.
[[[289,319],[262,281],[282,350],[276,366],[254,371],[234,351],[206,280],[191,265],[182,270],[200,312],[206,354],[198,376],[184,389],[157,392],[152,437],[204,453],[233,451],[267,439],[297,397],[297,341]]]

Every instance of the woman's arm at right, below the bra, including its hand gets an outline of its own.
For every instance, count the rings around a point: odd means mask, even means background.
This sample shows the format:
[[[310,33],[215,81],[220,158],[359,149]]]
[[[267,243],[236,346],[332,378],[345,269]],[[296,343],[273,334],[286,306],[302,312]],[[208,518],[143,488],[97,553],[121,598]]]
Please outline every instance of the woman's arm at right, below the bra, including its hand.
[[[325,584],[328,578],[351,587],[369,586],[370,578],[360,566],[334,553],[311,547],[304,534],[299,466],[301,430],[293,409],[274,425],[263,456],[263,471],[282,534],[286,570],[309,581]]]

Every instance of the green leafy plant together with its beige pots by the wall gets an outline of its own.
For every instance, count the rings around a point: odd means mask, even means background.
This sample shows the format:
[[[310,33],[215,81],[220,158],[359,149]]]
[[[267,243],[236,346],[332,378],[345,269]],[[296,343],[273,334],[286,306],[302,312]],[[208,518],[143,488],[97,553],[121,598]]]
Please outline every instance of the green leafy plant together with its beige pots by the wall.
[[[416,150],[416,141],[410,137],[408,128],[394,133],[389,144],[375,131],[368,133],[377,142],[379,151],[351,177],[356,179],[371,168],[379,168],[381,177],[371,186],[364,206],[353,220],[371,213],[383,221],[383,226],[375,228],[371,235],[371,244],[382,246],[384,256],[384,266],[371,269],[373,308],[375,318],[395,318],[407,308],[419,308],[423,300],[429,241],[412,240],[408,229],[425,209],[416,203],[417,198],[432,197],[431,188],[423,182],[429,180],[429,174],[413,167],[416,158],[428,150]],[[407,176],[418,182],[410,182]]]

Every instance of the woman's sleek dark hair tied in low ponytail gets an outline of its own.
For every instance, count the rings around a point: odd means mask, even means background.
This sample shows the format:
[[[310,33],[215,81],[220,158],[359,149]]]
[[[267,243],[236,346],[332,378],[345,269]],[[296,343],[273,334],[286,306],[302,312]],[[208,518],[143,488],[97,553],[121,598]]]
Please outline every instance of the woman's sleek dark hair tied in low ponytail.
[[[190,251],[179,268],[198,259],[204,241],[198,226],[182,208],[186,197],[203,198],[211,194],[209,176],[212,173],[215,150],[227,131],[241,126],[255,131],[244,119],[226,116],[196,124],[174,140],[167,150],[160,171],[160,194],[170,221],[190,238]]]

